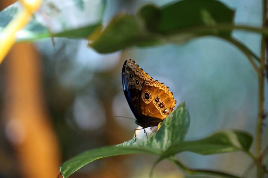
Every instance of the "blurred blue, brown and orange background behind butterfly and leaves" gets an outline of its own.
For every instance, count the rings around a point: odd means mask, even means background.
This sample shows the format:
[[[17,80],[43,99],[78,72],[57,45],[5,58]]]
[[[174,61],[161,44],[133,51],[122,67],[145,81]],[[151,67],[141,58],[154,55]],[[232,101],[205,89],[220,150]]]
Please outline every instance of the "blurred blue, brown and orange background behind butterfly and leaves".
[[[13,2],[1,1],[1,10]],[[84,15],[91,12],[92,16],[95,1],[84,2]],[[103,23],[119,11],[135,14],[147,3],[170,2],[106,1]],[[221,2],[236,10],[236,24],[262,25],[262,1]],[[66,21],[83,22],[71,18],[78,13],[71,9],[76,6],[68,8]],[[235,31],[232,35],[260,56],[259,34]],[[17,43],[0,65],[0,177],[57,177],[59,166],[73,156],[130,140],[135,122],[114,117],[134,118],[122,90],[121,70],[127,59],[169,86],[177,105],[186,102],[191,116],[186,140],[221,128],[245,130],[255,137],[258,78],[247,58],[229,42],[202,37],[180,45],[133,47],[105,55],[88,48],[86,40],[54,38],[54,43],[50,38]],[[266,111],[267,100],[265,82]],[[265,123],[262,148],[268,144],[267,119]],[[251,151],[255,152],[255,145]],[[178,158],[192,168],[239,176],[252,163],[242,152],[212,156],[185,152]],[[116,156],[90,163],[70,177],[148,177],[155,160],[148,155]],[[254,169],[248,177],[256,175]],[[154,176],[189,177],[167,161],[157,166]]]

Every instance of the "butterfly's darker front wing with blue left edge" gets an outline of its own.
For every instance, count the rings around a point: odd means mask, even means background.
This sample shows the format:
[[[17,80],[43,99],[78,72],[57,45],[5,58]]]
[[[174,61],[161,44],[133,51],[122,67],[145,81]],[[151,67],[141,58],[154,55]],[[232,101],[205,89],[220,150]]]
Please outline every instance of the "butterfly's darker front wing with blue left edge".
[[[136,119],[140,119],[140,94],[145,80],[153,79],[135,63],[129,59],[125,61],[122,68],[123,90],[128,105]]]

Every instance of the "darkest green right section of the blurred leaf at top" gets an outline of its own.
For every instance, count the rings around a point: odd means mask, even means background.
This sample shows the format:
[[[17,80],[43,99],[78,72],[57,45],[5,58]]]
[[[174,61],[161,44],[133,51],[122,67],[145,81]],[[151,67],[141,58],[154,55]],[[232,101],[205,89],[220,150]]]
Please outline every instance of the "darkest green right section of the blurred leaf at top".
[[[216,26],[217,23],[230,24],[233,23],[235,15],[235,11],[223,3],[211,0],[179,1],[163,7],[160,12],[161,18],[157,30],[165,34],[176,33],[182,28]],[[217,33],[215,30],[210,30],[207,34],[230,36],[231,31]]]

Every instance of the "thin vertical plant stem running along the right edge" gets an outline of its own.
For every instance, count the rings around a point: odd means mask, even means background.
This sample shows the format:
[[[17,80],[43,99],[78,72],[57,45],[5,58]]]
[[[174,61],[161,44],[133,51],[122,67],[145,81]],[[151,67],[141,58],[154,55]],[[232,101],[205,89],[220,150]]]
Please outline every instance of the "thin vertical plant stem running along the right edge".
[[[266,25],[267,21],[267,0],[263,0],[263,24],[262,26]],[[263,121],[263,101],[264,101],[264,96],[263,96],[263,78],[264,78],[264,67],[265,67],[265,35],[262,35],[262,40],[261,40],[261,52],[260,52],[260,73],[258,79],[259,79],[259,114],[258,114],[258,122],[257,122],[257,132],[256,132],[256,153],[258,159],[258,169],[257,169],[257,175],[258,177],[262,177],[262,168],[261,168],[261,163],[262,163],[262,157],[261,157],[261,131],[262,131],[262,121]]]

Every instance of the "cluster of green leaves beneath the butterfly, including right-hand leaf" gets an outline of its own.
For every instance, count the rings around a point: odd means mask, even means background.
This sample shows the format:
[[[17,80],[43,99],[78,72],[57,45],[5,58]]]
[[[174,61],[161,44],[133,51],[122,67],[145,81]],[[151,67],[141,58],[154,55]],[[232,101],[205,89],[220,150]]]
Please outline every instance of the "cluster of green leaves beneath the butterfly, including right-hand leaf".
[[[190,124],[190,116],[185,102],[178,105],[168,117],[161,122],[157,132],[126,141],[111,147],[92,149],[73,157],[62,164],[61,173],[66,178],[84,165],[109,156],[125,154],[151,154],[160,156],[161,161],[178,152],[191,151],[198,154],[215,154],[231,151],[248,151],[252,138],[249,134],[236,130],[222,130],[205,139],[183,141]]]

